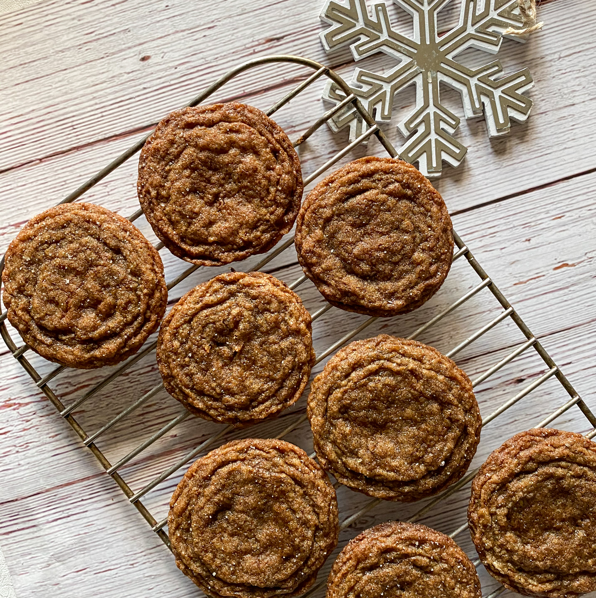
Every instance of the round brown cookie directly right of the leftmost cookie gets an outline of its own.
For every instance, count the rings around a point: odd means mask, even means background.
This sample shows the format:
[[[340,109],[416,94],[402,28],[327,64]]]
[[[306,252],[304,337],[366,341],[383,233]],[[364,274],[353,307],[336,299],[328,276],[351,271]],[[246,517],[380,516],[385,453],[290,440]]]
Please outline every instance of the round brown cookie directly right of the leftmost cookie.
[[[262,272],[196,286],[163,321],[157,343],[166,390],[198,416],[235,425],[296,402],[314,360],[300,297]]]

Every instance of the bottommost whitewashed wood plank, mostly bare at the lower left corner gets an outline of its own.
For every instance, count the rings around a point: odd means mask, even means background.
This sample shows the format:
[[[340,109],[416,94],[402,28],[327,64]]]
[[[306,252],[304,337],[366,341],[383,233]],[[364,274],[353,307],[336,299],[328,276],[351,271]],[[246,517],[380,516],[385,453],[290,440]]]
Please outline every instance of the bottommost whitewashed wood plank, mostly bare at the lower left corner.
[[[582,332],[593,335],[596,330],[592,325]],[[573,379],[589,385],[589,377],[593,376],[593,372],[590,373],[593,347],[586,343],[586,335],[564,331],[550,341],[565,361],[573,362],[570,372]],[[583,371],[577,371],[576,367]],[[525,405],[525,417],[512,417],[513,421],[507,422],[512,428],[518,430],[532,425],[531,411],[540,409],[545,398],[560,398],[560,393],[556,387],[549,387],[548,392],[532,398],[533,401]],[[577,425],[580,421],[577,414],[573,415],[575,421],[562,419],[559,425],[585,430]],[[494,434],[495,429],[492,432],[483,434],[484,456],[489,448],[504,440]],[[72,457],[75,455],[71,454]],[[87,461],[89,471],[97,469],[90,458],[77,457]],[[57,459],[48,459],[43,466],[48,473],[59,474]],[[437,509],[424,522],[445,532],[455,529],[461,523],[466,492],[460,494],[450,501],[452,510],[448,509],[446,516],[438,514]],[[338,495],[343,516],[366,504],[364,496],[347,489],[341,489]],[[387,518],[407,517],[414,509],[399,504],[379,505],[362,517],[354,529],[343,533],[342,540],[353,537],[358,529]],[[2,505],[2,515],[2,544],[10,554],[9,566],[20,597],[37,596],[41,591],[47,591],[48,596],[69,597],[89,590],[99,591],[102,596],[118,596],[124,580],[127,591],[140,595],[151,590],[164,596],[179,596],[182,591],[198,594],[184,576],[178,574],[168,551],[159,545],[144,521],[105,475],[89,476],[70,486],[54,484],[47,492],[23,497],[11,511]]]

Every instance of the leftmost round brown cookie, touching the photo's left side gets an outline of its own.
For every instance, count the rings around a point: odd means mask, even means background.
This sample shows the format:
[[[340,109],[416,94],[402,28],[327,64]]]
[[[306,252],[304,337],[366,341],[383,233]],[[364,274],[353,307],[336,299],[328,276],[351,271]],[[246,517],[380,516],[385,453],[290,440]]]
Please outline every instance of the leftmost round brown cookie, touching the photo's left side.
[[[8,321],[39,355],[99,368],[132,355],[163,318],[162,260],[126,218],[66,203],[32,218],[6,252]]]

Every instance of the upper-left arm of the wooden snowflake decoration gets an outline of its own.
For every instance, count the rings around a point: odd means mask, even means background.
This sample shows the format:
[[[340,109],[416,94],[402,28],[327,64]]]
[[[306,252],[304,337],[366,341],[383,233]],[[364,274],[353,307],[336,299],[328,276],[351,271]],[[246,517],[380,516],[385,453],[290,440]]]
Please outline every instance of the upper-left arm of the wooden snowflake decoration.
[[[384,3],[373,5],[372,16],[369,17],[364,0],[348,0],[347,5],[327,0],[321,20],[332,25],[320,34],[325,51],[351,44],[354,60],[361,60],[379,51],[398,60],[406,60],[415,54],[418,47],[415,41],[391,28]]]

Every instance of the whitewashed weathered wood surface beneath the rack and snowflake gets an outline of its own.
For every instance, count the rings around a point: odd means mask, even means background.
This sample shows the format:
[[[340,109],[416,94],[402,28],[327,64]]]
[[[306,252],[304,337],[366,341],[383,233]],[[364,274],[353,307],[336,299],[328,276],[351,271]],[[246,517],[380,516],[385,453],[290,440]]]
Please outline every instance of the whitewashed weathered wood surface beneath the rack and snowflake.
[[[324,56],[317,33],[319,1],[256,3],[228,0],[140,2],[51,2],[42,0],[0,17],[0,251],[24,222],[58,202],[142,136],[166,112],[186,103],[228,68],[252,57],[293,53],[339,65],[349,78],[354,64],[342,51]],[[455,3],[457,4],[457,3]],[[571,10],[573,8],[573,10]],[[583,13],[577,19],[577,11]],[[470,150],[457,170],[446,169],[438,184],[454,225],[480,263],[539,335],[546,349],[592,408],[596,309],[596,133],[591,126],[596,97],[594,36],[596,5],[589,0],[545,3],[544,32],[524,45],[506,41],[500,57],[506,70],[529,66],[536,81],[536,102],[528,123],[513,126],[509,138],[489,142],[482,121],[462,123],[458,138]],[[150,56],[145,60],[142,57]],[[472,60],[473,57],[470,57]],[[367,65],[390,66],[384,59]],[[215,99],[240,99],[266,108],[296,85],[305,71],[267,68],[230,82]],[[295,139],[320,114],[322,84],[316,83],[276,114]],[[407,104],[407,94],[404,104]],[[449,107],[461,114],[457,96]],[[397,136],[390,132],[397,143]],[[312,172],[345,144],[346,133],[321,129],[300,157]],[[347,159],[381,153],[378,144],[358,148]],[[84,196],[128,215],[136,210],[136,158],[121,166]],[[489,203],[489,205],[486,205]],[[144,218],[136,224],[151,239]],[[161,251],[166,277],[186,264]],[[247,261],[250,267],[258,258]],[[266,271],[286,282],[300,276],[296,254],[288,249]],[[220,269],[199,269],[174,289],[171,301]],[[380,331],[408,335],[448,306],[479,279],[462,258],[445,285],[416,312],[378,320],[357,338]],[[297,289],[311,312],[323,301],[310,282]],[[481,291],[419,337],[448,351],[499,312],[488,290]],[[314,324],[317,353],[366,318],[332,309]],[[14,336],[16,338],[16,336]],[[509,321],[498,325],[455,358],[472,379],[496,363],[524,338]],[[20,344],[20,342],[19,342]],[[13,575],[17,596],[199,596],[175,568],[162,542],[150,531],[113,481],[75,437],[28,375],[0,344],[0,545]],[[28,353],[30,355],[30,353]],[[35,355],[41,373],[53,365]],[[320,371],[323,363],[315,368]],[[110,370],[107,370],[108,372]],[[63,373],[51,388],[64,402],[74,401],[107,375]],[[483,416],[533,382],[545,366],[528,350],[478,386]],[[147,392],[159,373],[154,354],[142,359],[120,383],[107,386],[75,412],[90,432],[100,428],[130,401]],[[567,400],[551,379],[522,399],[482,433],[475,464],[503,440],[530,428]],[[276,435],[304,413],[305,398],[273,423],[250,434]],[[181,413],[162,391],[126,422],[98,441],[115,462]],[[555,425],[586,432],[577,408]],[[220,426],[189,419],[136,457],[121,472],[140,489]],[[246,435],[233,432],[221,442]],[[308,423],[287,436],[311,450]],[[150,492],[144,503],[160,519],[181,472]],[[464,521],[467,488],[433,508],[422,520],[444,532]],[[358,511],[368,499],[341,488],[341,516]],[[420,504],[383,503],[342,533],[342,544],[357,530],[388,518],[405,518]],[[473,554],[467,532],[458,541]],[[330,559],[324,571],[329,569]],[[480,568],[487,593],[494,584]]]

